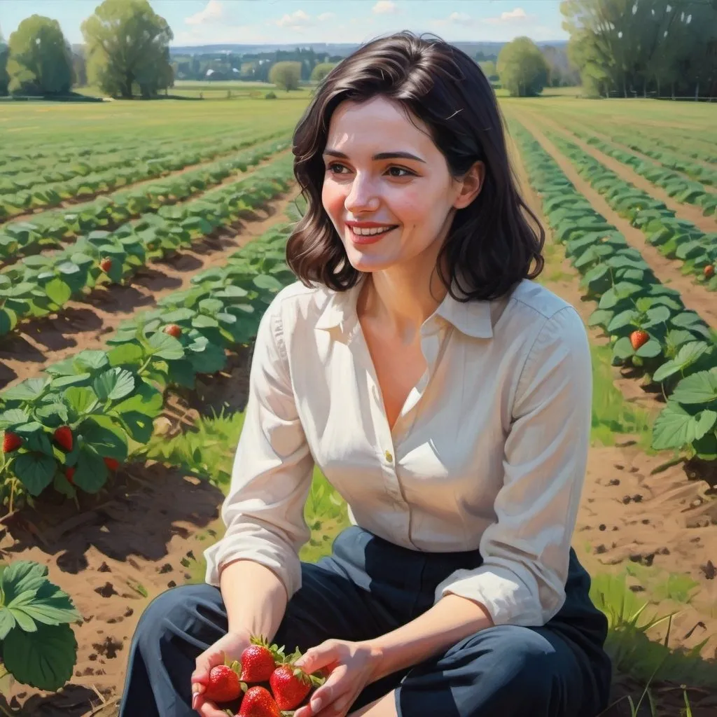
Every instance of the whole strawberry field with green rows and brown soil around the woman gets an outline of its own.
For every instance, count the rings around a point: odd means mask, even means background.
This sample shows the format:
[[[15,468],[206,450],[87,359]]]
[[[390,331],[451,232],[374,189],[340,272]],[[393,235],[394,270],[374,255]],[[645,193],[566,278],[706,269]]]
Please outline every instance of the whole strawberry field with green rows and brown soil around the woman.
[[[630,715],[621,698],[654,678],[655,713],[679,714],[684,684],[692,713],[713,715],[717,108],[500,102],[547,232],[539,280],[592,345],[574,547],[611,625],[606,714]],[[143,608],[203,579],[252,339],[293,281],[290,137],[305,103],[3,108],[0,430],[16,444],[0,454],[0,637],[16,680],[0,681],[0,711],[115,714]],[[318,468],[305,516],[315,559],[347,521]]]

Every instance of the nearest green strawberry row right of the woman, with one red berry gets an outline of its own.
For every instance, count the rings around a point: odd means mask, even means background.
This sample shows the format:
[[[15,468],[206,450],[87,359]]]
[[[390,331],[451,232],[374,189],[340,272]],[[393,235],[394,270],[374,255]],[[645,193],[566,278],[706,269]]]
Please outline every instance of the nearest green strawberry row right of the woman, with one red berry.
[[[597,302],[589,325],[609,336],[614,366],[634,366],[642,371],[643,385],[667,399],[653,426],[652,447],[717,460],[717,335],[685,309],[676,290],[657,280],[640,252],[593,209],[517,120],[511,120],[511,133],[554,237],[581,275],[585,295]],[[590,167],[585,174],[600,171]],[[599,186],[622,216],[648,235],[664,231],[664,215],[613,190],[613,179],[602,176]]]

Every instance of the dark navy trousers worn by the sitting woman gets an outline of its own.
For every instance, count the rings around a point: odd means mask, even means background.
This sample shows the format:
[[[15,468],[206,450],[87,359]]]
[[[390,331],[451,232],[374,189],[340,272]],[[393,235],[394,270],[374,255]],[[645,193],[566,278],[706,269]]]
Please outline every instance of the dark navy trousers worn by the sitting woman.
[[[377,637],[429,609],[453,571],[480,564],[478,551],[422,553],[346,528],[331,556],[303,564],[302,587],[274,641],[303,652],[329,638]],[[596,717],[607,707],[612,668],[603,650],[607,620],[589,585],[571,550],[566,601],[547,625],[482,630],[369,685],[352,709],[395,688],[399,717]],[[185,585],[156,597],[132,640],[120,717],[196,716],[194,660],[226,631],[215,587]]]

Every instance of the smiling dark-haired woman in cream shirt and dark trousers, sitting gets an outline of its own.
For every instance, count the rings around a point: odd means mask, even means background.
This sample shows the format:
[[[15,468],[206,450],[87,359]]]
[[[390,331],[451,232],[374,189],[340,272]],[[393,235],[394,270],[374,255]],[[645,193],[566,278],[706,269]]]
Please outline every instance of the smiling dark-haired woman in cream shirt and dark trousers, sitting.
[[[123,717],[202,693],[261,634],[328,671],[295,717],[593,717],[607,622],[571,550],[592,372],[533,282],[544,233],[470,57],[402,32],[343,60],[294,137],[298,281],[263,316],[206,584],[146,609]],[[531,262],[536,268],[531,272]],[[314,465],[353,526],[302,564]]]

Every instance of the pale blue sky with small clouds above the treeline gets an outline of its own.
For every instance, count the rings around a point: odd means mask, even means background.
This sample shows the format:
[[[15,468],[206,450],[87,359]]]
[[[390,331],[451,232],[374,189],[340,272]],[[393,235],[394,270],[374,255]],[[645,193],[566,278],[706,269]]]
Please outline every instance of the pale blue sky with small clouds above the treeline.
[[[57,19],[82,42],[80,25],[98,0],[0,0],[0,33],[22,19]],[[402,29],[449,42],[567,39],[559,0],[150,0],[174,32],[172,45],[365,42]]]

